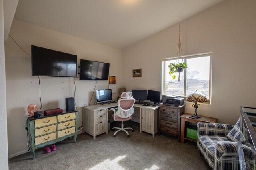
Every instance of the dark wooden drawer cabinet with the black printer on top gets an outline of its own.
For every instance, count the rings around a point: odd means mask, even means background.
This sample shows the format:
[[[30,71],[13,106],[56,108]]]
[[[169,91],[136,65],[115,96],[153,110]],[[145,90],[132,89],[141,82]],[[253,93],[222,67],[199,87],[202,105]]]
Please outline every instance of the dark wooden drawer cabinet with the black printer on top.
[[[159,110],[159,134],[168,133],[180,141],[180,115],[184,114],[185,105],[174,107],[161,105]]]

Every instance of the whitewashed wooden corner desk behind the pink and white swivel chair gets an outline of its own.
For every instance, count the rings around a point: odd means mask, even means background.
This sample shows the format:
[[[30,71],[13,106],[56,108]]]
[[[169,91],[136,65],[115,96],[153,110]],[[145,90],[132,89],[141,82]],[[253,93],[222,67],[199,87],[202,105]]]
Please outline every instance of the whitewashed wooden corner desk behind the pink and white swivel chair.
[[[97,135],[108,134],[108,111],[118,107],[117,103],[95,104],[88,107],[82,107],[83,113],[83,133],[89,133],[96,139]],[[140,110],[140,133],[142,131],[151,133],[154,137],[158,131],[158,107],[142,106],[134,104],[135,110]]]

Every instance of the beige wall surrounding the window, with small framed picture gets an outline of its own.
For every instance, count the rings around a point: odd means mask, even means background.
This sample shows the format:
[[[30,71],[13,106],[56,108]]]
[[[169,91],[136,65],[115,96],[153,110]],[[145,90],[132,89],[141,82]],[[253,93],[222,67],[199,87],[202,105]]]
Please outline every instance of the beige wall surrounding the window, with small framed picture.
[[[226,0],[182,21],[183,55],[213,53],[212,102],[200,104],[198,114],[235,123],[239,106],[256,107],[255,9],[255,0]],[[178,31],[174,25],[124,50],[127,90],[161,90],[161,59],[176,56]],[[132,78],[135,68],[142,68],[141,78]],[[194,113],[192,103],[186,103],[185,112]]]

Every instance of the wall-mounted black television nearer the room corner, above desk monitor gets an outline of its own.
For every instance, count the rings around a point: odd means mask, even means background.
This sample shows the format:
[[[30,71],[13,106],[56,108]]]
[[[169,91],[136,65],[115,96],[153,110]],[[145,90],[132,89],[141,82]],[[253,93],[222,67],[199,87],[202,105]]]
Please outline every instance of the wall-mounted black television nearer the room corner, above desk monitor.
[[[108,80],[109,63],[80,60],[80,80]]]

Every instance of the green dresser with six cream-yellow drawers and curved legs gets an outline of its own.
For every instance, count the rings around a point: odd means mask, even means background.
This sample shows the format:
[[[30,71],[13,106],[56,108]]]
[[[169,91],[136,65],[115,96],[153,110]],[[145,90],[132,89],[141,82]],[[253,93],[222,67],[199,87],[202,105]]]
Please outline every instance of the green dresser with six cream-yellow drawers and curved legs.
[[[76,143],[78,111],[65,112],[42,118],[28,118],[29,145],[36,158],[35,150],[74,136]]]

